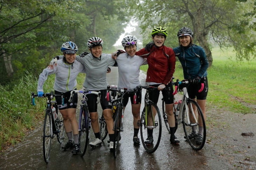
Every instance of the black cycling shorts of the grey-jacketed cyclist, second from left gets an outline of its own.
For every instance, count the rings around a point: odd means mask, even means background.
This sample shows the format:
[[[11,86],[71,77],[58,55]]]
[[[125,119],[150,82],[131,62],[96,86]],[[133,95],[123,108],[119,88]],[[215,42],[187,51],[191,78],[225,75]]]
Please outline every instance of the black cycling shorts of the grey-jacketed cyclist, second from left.
[[[109,101],[107,101],[107,98],[106,98],[107,90],[93,90],[93,91],[100,91],[101,92],[100,104],[101,104],[102,110],[112,109],[110,94],[109,94]],[[87,105],[88,105],[89,112],[90,113],[91,112],[97,112],[97,95],[88,94],[88,95],[86,95],[86,97],[88,98]]]

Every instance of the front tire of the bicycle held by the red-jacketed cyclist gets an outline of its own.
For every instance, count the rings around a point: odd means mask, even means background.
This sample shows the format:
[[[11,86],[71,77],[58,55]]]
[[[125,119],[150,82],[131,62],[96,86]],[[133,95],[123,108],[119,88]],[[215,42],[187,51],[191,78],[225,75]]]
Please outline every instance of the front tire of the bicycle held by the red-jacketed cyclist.
[[[158,148],[160,140],[161,140],[161,133],[162,133],[161,114],[160,114],[160,111],[155,103],[149,101],[146,104],[146,106],[150,109],[150,111],[148,113],[150,113],[152,108],[154,108],[156,111],[156,116],[155,116],[154,120],[152,119],[152,116],[146,117],[146,108],[144,107],[142,114],[141,114],[141,121],[140,121],[141,142],[143,144],[144,149],[148,153],[153,153]],[[148,138],[147,130],[152,129],[150,122],[154,122],[154,124],[155,124],[154,128],[153,128],[153,139],[154,140],[157,139],[157,141],[153,142],[149,145],[148,143],[145,143],[145,141]],[[150,127],[148,127],[148,125],[150,125]]]

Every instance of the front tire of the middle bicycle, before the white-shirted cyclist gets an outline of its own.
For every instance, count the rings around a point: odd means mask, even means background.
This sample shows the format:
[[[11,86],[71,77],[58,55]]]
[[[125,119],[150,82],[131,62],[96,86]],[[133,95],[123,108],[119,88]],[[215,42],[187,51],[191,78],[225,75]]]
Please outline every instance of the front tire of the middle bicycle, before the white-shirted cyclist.
[[[114,148],[113,148],[114,157],[116,157],[117,155],[118,146],[119,146],[121,113],[122,113],[122,108],[121,108],[121,105],[118,104],[116,107],[116,115],[115,115],[115,121],[114,121],[114,127],[115,127],[114,128]]]

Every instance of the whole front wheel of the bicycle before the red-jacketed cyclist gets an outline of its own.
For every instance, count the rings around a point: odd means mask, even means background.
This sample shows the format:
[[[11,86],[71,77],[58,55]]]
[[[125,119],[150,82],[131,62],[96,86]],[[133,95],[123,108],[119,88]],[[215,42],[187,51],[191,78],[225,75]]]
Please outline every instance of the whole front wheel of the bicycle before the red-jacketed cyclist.
[[[148,102],[143,109],[140,121],[141,142],[148,153],[153,153],[159,146],[162,121],[161,114],[153,102]]]

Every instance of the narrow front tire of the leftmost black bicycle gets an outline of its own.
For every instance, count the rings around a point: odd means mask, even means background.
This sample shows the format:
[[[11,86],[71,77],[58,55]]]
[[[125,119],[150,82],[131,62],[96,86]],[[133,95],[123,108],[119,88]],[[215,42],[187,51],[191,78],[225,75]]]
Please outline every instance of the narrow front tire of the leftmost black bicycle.
[[[46,163],[49,162],[50,143],[52,140],[50,118],[51,112],[47,109],[45,113],[45,121],[43,122],[43,158]]]

